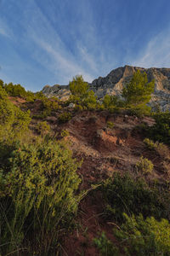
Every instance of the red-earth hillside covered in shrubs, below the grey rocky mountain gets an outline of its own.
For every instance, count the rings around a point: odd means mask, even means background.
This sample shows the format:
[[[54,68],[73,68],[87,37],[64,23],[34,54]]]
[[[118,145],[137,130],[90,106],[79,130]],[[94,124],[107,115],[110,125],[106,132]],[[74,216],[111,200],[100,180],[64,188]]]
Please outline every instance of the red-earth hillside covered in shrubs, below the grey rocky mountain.
[[[1,84],[0,256],[169,256],[169,112]]]

